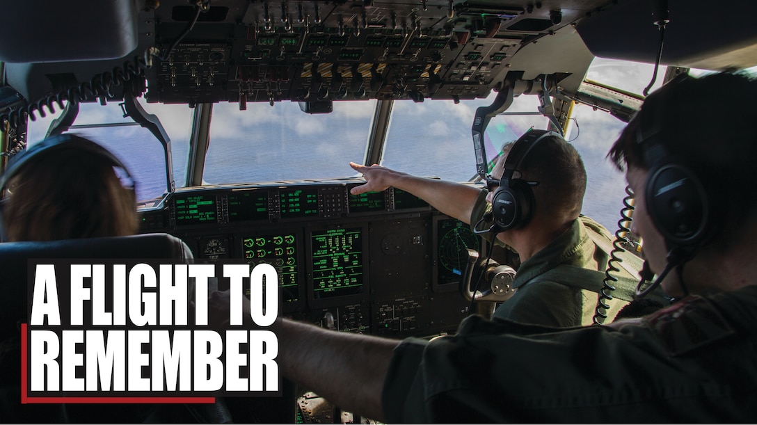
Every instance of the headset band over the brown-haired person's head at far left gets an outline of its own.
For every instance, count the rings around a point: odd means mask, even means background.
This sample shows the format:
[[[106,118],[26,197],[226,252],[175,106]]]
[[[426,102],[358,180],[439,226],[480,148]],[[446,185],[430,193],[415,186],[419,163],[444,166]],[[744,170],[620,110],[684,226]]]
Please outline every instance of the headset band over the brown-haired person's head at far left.
[[[124,177],[126,178],[126,184],[123,184],[123,187],[128,189],[132,197],[136,199],[136,181],[129,172],[129,169],[127,169],[110,150],[96,144],[94,141],[90,141],[77,135],[51,136],[45,138],[45,140],[42,140],[39,143],[33,144],[32,147],[23,150],[19,154],[14,155],[14,157],[11,157],[11,160],[8,162],[8,168],[6,168],[5,172],[0,175],[0,194],[5,194],[5,190],[11,179],[18,175],[21,170],[26,169],[26,166],[30,163],[34,163],[35,159],[46,157],[63,150],[79,150],[82,153],[94,154],[107,163],[110,163],[111,166],[123,169],[123,172],[125,173]],[[0,240],[2,241],[5,240],[5,222],[3,221],[4,212],[2,206],[6,201],[7,199],[0,200]]]

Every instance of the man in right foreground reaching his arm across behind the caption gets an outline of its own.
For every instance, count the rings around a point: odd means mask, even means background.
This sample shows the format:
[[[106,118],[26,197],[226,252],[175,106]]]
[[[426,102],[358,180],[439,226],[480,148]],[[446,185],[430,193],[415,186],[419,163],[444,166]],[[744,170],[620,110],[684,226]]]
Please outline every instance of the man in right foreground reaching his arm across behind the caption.
[[[757,81],[740,74],[668,83],[610,150],[637,194],[633,226],[656,273],[639,296],[660,284],[673,305],[566,330],[473,315],[430,342],[282,319],[279,369],[389,423],[752,422],[757,136],[744,123],[755,98]],[[210,302],[223,318],[228,293]]]

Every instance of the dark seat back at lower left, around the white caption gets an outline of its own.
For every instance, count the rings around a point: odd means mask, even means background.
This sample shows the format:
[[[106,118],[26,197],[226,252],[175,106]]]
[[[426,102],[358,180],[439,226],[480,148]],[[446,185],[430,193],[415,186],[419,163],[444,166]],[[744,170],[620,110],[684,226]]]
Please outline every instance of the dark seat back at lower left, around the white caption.
[[[20,404],[20,327],[26,322],[29,259],[192,259],[170,234],[0,244],[0,419],[2,422],[227,422],[223,405]]]

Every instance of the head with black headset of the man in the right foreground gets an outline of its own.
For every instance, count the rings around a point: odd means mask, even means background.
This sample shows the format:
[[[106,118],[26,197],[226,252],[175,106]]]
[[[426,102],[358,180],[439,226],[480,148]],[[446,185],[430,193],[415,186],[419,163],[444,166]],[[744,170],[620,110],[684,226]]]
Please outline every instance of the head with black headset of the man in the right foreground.
[[[651,270],[671,271],[668,295],[702,290],[707,259],[728,256],[754,226],[755,96],[757,82],[734,73],[674,80],[646,98],[609,151],[636,194],[632,230]]]

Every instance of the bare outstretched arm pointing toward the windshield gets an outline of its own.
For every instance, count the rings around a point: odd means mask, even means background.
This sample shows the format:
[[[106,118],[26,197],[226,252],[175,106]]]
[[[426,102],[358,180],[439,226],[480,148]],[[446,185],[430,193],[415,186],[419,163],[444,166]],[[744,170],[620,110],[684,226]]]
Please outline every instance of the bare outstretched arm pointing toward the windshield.
[[[441,213],[469,223],[475,200],[481,192],[472,186],[453,181],[422,178],[404,172],[394,171],[384,166],[361,166],[350,163],[357,172],[363,173],[365,185],[355,186],[351,194],[385,191],[390,186],[410,192],[425,200]]]

